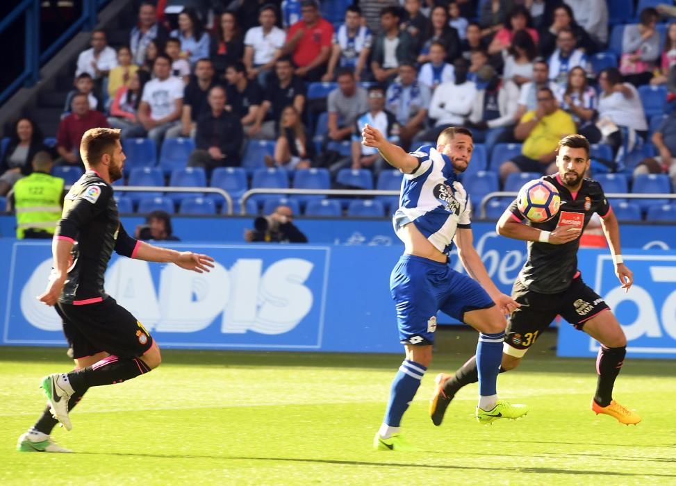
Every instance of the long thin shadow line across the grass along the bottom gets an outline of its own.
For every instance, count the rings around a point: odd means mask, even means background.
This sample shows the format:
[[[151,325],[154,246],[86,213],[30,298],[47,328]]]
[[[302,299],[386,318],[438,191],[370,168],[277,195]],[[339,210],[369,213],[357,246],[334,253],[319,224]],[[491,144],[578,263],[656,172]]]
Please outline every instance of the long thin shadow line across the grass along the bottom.
[[[420,451],[422,452],[422,451]],[[261,462],[298,462],[306,464],[336,464],[340,466],[367,466],[367,467],[401,467],[414,469],[440,469],[440,470],[457,470],[457,471],[504,471],[515,473],[531,473],[531,474],[570,474],[574,476],[589,475],[589,476],[623,476],[623,477],[644,477],[654,476],[657,478],[676,478],[676,474],[642,474],[642,473],[624,473],[618,471],[586,471],[574,469],[556,469],[553,467],[472,467],[472,466],[452,466],[452,465],[435,465],[435,464],[411,464],[410,462],[367,462],[367,461],[343,461],[331,459],[302,459],[302,458],[251,458],[244,456],[222,456],[222,455],[174,455],[174,454],[150,454],[150,453],[94,453],[81,452],[79,454],[86,455],[117,455],[129,457],[147,457],[147,458],[165,458],[165,459],[209,459],[209,460],[246,460],[246,461],[261,461]]]

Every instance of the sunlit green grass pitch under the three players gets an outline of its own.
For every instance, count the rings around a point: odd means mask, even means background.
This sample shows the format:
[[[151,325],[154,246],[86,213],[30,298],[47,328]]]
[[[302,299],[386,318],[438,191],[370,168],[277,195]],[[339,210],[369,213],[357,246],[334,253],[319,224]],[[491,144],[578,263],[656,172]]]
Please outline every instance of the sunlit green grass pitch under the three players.
[[[589,410],[593,360],[534,349],[498,385],[527,417],[480,426],[472,385],[434,427],[434,376],[468,353],[436,354],[402,424],[414,453],[371,449],[401,355],[167,350],[148,376],[90,389],[73,430],[53,433],[65,455],[15,451],[44,405],[40,378],[69,367],[64,350],[0,348],[0,485],[676,484],[676,362],[625,362],[615,396],[638,426]]]

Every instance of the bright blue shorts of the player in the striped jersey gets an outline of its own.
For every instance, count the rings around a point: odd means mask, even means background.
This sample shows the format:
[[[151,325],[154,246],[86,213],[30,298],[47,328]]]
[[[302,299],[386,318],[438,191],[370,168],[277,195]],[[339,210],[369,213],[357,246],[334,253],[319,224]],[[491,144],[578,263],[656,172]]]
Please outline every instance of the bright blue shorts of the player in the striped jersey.
[[[465,312],[493,307],[484,287],[445,263],[402,255],[390,276],[402,344],[433,344],[436,314],[463,321]]]

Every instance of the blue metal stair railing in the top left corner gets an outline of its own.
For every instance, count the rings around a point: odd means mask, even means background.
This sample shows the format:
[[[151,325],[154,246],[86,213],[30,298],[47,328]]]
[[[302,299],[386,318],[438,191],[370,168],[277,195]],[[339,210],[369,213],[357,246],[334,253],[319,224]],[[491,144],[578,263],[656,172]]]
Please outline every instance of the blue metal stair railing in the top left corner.
[[[108,0],[83,0],[82,13],[47,49],[40,52],[40,0],[23,0],[0,21],[0,33],[20,17],[24,17],[24,69],[0,93],[0,104],[21,86],[33,86],[40,79],[40,66],[79,31],[90,31],[97,24],[97,12]]]

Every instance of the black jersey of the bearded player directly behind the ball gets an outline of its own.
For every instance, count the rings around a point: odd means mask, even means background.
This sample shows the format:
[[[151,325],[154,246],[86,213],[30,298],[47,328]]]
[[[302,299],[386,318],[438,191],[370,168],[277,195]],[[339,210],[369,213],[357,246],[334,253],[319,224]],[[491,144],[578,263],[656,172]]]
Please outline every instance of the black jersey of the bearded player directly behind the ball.
[[[544,176],[541,179],[554,184],[559,190],[561,210],[549,221],[534,223],[526,219],[517,208],[516,201],[513,201],[508,210],[518,221],[543,231],[554,231],[559,225],[559,219],[567,217],[566,212],[577,212],[584,215],[584,230],[593,213],[597,212],[600,217],[605,217],[611,211],[600,183],[593,179],[585,178],[575,194],[571,194],[561,183],[561,177],[558,174]],[[579,237],[564,244],[529,241],[527,248],[528,258],[519,273],[523,285],[541,294],[555,294],[566,290],[577,274]]]

